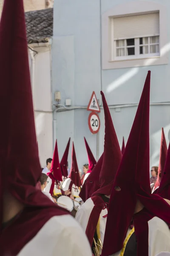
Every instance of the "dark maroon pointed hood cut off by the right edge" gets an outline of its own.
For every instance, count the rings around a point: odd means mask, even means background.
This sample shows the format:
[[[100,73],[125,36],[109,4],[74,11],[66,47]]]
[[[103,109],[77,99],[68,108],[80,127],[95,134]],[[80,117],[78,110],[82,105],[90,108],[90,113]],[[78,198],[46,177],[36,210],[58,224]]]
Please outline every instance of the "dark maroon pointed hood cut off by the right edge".
[[[164,166],[161,182],[157,194],[170,200],[170,144],[167,151],[167,159]]]

